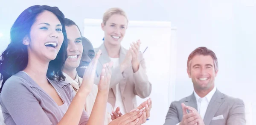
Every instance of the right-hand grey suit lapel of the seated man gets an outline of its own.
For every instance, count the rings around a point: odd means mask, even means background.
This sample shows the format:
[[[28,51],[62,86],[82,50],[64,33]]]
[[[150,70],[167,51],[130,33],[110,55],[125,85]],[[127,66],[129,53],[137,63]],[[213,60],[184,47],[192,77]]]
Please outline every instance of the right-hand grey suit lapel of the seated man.
[[[209,102],[209,105],[207,107],[205,116],[204,116],[204,124],[210,125],[212,122],[212,118],[218,111],[218,108],[221,106],[221,104],[224,102],[224,96],[221,92],[216,90],[215,94],[213,94],[212,99]]]

